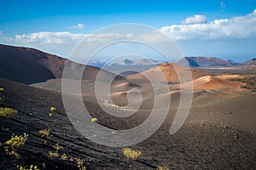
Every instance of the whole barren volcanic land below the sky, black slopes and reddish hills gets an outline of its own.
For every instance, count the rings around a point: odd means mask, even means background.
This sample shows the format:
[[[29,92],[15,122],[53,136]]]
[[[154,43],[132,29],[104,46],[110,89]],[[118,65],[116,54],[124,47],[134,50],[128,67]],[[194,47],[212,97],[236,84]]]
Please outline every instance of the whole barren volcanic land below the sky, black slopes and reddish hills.
[[[183,65],[185,59],[190,67]],[[160,128],[148,139],[128,146],[141,152],[137,160],[124,156],[123,147],[96,144],[73,127],[61,97],[65,65],[73,71],[85,68],[81,81],[84,105],[96,118],[95,123],[113,130],[138,126],[148,118],[155,97],[161,101],[171,96],[168,115]],[[174,67],[184,75],[182,82]],[[191,72],[190,79],[187,71]],[[134,89],[133,93],[143,96],[135,114],[110,116],[102,109],[95,94],[99,72],[104,77],[99,82],[102,85],[105,78],[113,78],[113,103],[105,102],[104,107],[119,106],[111,109],[120,111],[129,104],[127,98]],[[217,58],[186,57],[177,63],[157,63],[146,71],[124,75],[33,48],[0,45],[0,107],[17,111],[14,116],[0,116],[0,169],[29,165],[39,169],[256,169],[256,59],[234,65]],[[154,79],[149,82],[147,76],[152,75]],[[152,82],[165,83],[170,93],[154,96]],[[170,134],[181,93],[191,82],[194,87],[189,116],[177,133]],[[77,99],[78,94],[70,95]],[[130,97],[138,102],[137,97]],[[42,135],[42,130],[48,133]],[[6,150],[6,146],[12,150],[7,141],[13,134],[24,133],[28,134],[27,140],[13,149],[19,155],[14,156]]]

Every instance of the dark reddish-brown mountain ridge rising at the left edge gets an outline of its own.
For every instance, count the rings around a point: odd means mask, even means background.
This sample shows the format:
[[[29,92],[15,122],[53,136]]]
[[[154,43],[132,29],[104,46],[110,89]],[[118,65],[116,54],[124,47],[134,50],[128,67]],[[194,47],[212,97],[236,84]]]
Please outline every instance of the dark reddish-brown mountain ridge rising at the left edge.
[[[100,71],[99,68],[89,65],[85,67],[38,49],[0,44],[0,77],[8,80],[25,84],[46,82],[49,79],[61,78],[65,65],[73,72],[73,75],[69,75],[70,78],[79,78],[75,72],[83,68],[86,70],[84,79],[95,79]],[[103,71],[103,74],[115,77],[107,71]]]

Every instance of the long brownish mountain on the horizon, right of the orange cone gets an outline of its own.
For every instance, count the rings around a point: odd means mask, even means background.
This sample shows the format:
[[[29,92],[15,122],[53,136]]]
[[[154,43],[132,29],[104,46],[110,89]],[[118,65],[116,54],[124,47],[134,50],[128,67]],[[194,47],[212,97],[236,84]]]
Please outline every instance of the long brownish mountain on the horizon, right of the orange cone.
[[[189,64],[189,65],[188,65]],[[177,61],[177,65],[191,67],[207,67],[207,66],[234,66],[233,62],[216,57],[184,57]]]

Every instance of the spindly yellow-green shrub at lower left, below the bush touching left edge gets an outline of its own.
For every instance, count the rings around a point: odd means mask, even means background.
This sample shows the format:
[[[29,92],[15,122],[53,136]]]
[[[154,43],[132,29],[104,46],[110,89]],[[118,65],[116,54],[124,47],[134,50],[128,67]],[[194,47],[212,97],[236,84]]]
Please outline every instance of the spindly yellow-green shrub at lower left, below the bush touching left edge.
[[[4,147],[5,152],[11,156],[15,156],[16,158],[19,158],[20,155],[17,153],[17,149],[26,143],[27,137],[28,137],[28,134],[26,133],[24,133],[23,136],[22,135],[18,136],[13,134],[11,139],[5,142],[6,144],[6,146]]]

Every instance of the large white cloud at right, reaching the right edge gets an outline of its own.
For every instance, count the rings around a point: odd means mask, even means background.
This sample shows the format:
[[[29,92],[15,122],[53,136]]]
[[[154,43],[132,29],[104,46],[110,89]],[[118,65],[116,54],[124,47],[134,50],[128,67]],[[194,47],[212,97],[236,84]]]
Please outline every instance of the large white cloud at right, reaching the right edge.
[[[176,41],[221,40],[226,38],[256,37],[256,9],[245,16],[213,20],[209,23],[172,25],[160,28]]]

